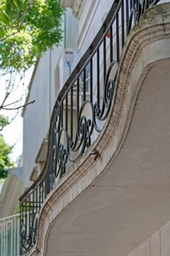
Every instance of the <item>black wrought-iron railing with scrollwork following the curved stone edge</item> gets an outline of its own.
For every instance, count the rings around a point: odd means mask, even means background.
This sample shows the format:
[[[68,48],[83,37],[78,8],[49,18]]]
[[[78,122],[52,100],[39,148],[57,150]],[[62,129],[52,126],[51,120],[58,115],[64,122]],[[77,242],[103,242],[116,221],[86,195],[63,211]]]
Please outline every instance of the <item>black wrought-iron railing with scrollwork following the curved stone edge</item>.
[[[44,199],[101,131],[116,93],[116,69],[126,37],[142,13],[158,2],[114,1],[97,36],[60,91],[50,119],[44,170],[20,197],[21,253],[36,243],[38,212]],[[29,212],[26,217],[25,212]]]

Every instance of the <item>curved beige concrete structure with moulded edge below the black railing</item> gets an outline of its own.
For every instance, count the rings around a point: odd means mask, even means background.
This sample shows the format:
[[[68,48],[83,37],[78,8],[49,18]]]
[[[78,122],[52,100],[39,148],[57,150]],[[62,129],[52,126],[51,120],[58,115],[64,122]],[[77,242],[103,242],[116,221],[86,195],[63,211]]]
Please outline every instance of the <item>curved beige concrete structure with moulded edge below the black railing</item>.
[[[169,221],[169,67],[164,3],[130,32],[108,122],[44,201],[28,255],[128,255]]]

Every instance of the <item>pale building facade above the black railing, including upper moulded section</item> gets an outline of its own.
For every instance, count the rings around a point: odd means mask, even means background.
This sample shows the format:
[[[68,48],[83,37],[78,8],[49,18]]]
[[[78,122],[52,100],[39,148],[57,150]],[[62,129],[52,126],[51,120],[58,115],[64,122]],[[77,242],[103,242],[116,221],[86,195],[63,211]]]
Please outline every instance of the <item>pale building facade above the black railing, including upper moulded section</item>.
[[[48,135],[50,115],[59,88],[58,84],[58,63],[62,55],[62,49],[77,48],[84,53],[89,47],[95,34],[97,34],[105,12],[110,10],[113,1],[108,0],[107,5],[104,0],[85,1],[81,17],[77,20],[72,9],[68,8],[65,13],[65,39],[58,48],[54,47],[48,51],[38,63],[28,102],[36,100],[34,105],[27,106],[24,113],[24,146],[23,146],[23,165],[24,165],[24,189],[30,187],[30,174],[36,166],[35,160],[44,137]],[[79,32],[79,33],[78,33]],[[82,55],[82,54],[81,54]],[[40,166],[38,167],[40,173]]]

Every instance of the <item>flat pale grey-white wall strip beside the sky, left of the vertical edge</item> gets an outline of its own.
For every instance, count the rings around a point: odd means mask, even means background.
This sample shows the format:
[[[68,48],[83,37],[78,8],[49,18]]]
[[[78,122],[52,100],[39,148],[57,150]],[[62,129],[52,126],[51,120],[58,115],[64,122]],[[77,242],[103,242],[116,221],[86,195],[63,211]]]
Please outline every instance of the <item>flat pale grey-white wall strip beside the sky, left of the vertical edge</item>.
[[[49,61],[50,55],[47,53],[38,63],[28,100],[36,100],[36,102],[33,106],[27,106],[24,113],[24,188],[30,186],[30,174],[35,166],[42,139],[48,132],[50,119]]]

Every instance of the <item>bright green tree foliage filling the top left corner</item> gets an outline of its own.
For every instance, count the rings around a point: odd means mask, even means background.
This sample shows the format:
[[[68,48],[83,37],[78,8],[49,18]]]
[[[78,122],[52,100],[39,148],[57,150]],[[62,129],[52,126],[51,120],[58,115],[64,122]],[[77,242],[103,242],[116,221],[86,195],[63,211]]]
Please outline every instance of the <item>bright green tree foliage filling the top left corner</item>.
[[[21,71],[62,39],[56,0],[0,0],[0,68]]]

